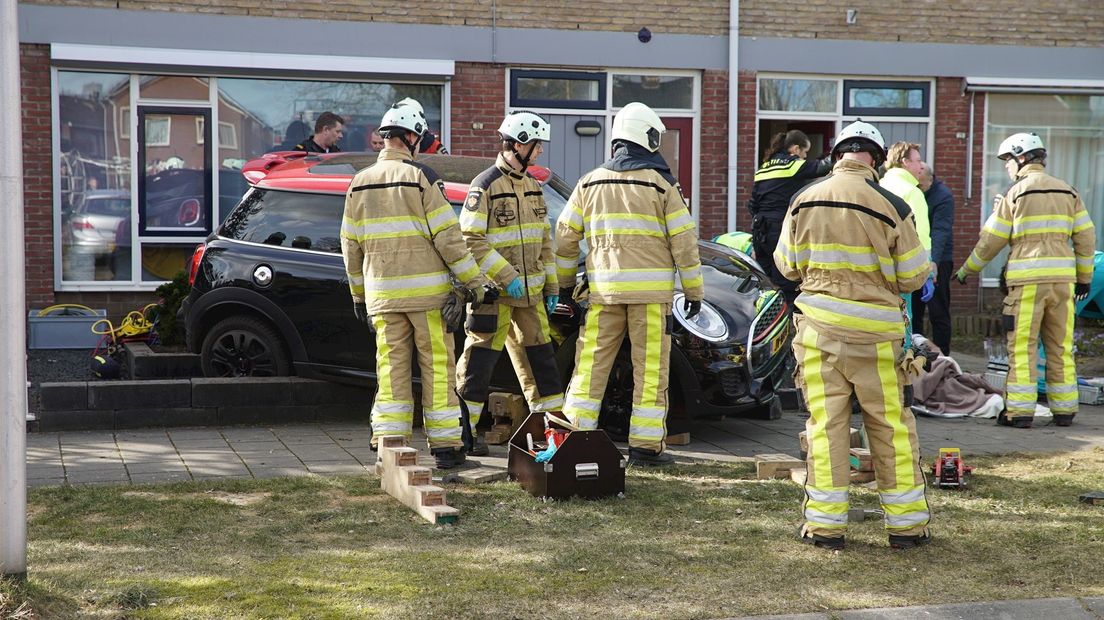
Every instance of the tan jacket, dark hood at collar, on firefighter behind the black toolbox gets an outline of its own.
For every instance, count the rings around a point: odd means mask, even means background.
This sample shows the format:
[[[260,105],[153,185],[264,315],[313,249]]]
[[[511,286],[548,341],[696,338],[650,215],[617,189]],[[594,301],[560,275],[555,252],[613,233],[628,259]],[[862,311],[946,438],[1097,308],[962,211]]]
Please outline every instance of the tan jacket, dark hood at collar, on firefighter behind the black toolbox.
[[[575,185],[556,223],[560,287],[574,287],[578,244],[586,239],[590,300],[671,303],[675,271],[692,301],[704,297],[698,228],[666,168],[613,170],[614,159]],[[623,157],[624,159],[624,157]],[[661,160],[660,160],[661,161]]]

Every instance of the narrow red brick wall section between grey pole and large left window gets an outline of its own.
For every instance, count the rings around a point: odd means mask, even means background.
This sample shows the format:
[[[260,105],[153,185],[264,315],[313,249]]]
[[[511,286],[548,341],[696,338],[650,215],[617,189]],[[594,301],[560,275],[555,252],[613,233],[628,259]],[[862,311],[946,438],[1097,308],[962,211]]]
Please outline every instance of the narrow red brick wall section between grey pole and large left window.
[[[54,302],[50,46],[20,45],[28,308]]]

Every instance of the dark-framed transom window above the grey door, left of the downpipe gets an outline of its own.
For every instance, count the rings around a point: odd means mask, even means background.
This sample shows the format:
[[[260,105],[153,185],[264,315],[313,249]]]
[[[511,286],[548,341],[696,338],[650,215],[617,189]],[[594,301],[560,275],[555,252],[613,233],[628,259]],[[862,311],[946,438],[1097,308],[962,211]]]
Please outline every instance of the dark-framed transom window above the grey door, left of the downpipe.
[[[606,74],[566,71],[511,71],[510,106],[605,109]]]

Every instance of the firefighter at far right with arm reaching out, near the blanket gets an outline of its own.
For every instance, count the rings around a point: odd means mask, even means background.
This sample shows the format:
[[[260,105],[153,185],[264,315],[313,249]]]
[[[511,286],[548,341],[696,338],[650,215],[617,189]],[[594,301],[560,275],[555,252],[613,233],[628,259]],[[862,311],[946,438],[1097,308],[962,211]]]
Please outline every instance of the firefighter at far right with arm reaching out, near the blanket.
[[[1047,354],[1047,404],[1054,425],[1070,426],[1078,413],[1073,300],[1089,295],[1096,231],[1078,192],[1047,173],[1047,149],[1039,136],[1013,133],[1000,143],[997,157],[1005,162],[1012,186],[998,199],[955,279],[966,284],[1010,246],[1001,316],[1010,353],[1007,411],[997,421],[1031,428],[1041,336]]]

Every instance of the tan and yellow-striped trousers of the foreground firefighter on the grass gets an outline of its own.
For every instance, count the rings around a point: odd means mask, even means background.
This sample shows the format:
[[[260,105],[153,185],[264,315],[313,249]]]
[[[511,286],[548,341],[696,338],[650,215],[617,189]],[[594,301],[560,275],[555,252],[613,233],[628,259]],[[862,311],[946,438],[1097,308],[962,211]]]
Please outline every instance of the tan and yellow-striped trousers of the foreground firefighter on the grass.
[[[795,321],[798,383],[809,408],[803,533],[838,537],[847,530],[853,393],[862,407],[885,528],[903,536],[923,534],[931,513],[916,421],[904,406],[901,344],[841,342],[818,333],[803,317]]]

